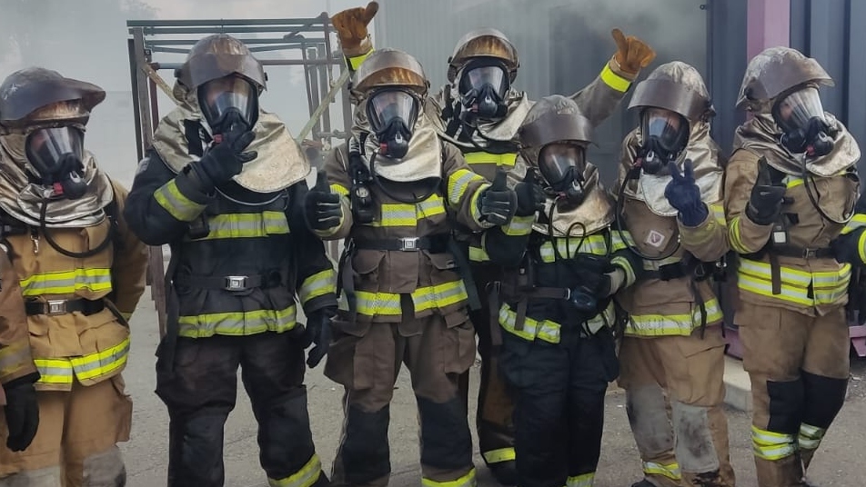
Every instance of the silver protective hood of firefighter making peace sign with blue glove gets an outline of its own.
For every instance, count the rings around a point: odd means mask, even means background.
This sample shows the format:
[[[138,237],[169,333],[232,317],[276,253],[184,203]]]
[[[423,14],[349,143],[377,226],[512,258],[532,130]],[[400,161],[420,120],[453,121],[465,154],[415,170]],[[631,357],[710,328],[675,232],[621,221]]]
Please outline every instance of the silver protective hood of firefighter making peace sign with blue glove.
[[[626,136],[619,165],[619,180],[616,188],[618,191],[623,179],[629,174],[642,143],[640,128],[634,129]],[[704,122],[692,124],[689,144],[677,158],[680,172],[686,159],[691,159],[694,164],[695,183],[700,188],[701,201],[707,203],[721,201],[724,169],[720,148],[710,137],[710,124]],[[625,196],[646,203],[654,214],[676,216],[679,212],[665,197],[665,188],[670,183],[670,179],[670,174],[641,172],[637,180],[631,180],[626,184]]]

